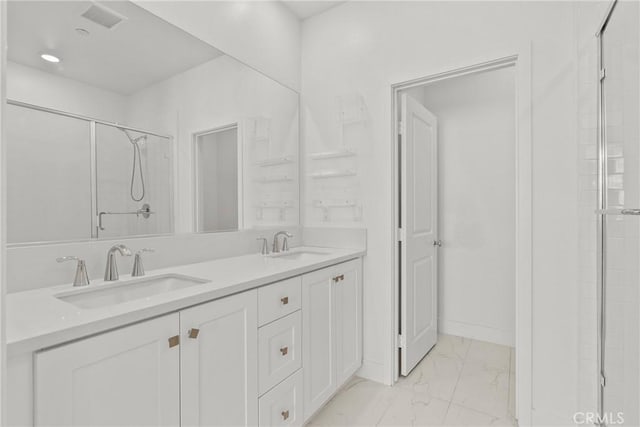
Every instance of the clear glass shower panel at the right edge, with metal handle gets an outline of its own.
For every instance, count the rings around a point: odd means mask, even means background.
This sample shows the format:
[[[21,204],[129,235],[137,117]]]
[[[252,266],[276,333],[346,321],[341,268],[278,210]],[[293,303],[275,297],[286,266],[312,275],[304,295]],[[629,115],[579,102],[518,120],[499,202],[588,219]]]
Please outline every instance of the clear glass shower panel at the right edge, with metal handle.
[[[640,87],[638,3],[616,4],[601,34],[603,140],[606,198],[603,236],[604,286],[603,424],[640,425],[638,316],[640,216]]]

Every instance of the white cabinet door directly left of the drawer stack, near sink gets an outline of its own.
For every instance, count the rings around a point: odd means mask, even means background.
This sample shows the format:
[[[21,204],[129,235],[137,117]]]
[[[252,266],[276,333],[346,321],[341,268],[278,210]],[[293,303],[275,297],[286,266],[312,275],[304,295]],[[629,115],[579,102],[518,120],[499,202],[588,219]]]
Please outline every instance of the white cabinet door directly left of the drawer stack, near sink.
[[[180,328],[182,425],[256,425],[257,291],[183,310]]]

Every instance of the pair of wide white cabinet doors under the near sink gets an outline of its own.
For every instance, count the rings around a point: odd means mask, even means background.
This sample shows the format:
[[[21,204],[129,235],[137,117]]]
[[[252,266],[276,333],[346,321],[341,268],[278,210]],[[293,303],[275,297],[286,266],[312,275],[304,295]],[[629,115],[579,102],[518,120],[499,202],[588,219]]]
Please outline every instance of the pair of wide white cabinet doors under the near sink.
[[[257,291],[35,357],[35,425],[258,422]]]

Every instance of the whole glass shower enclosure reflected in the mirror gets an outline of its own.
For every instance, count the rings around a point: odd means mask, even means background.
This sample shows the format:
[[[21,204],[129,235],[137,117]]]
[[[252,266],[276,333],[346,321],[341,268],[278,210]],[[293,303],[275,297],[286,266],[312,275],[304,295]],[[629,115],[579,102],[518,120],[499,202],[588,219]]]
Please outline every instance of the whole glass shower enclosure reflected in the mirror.
[[[8,243],[173,232],[172,138],[9,101]]]

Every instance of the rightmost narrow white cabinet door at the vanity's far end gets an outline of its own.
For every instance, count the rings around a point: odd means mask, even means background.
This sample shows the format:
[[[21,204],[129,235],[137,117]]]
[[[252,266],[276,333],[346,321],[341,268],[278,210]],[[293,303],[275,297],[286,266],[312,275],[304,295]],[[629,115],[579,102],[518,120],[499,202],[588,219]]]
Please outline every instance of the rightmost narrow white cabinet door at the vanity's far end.
[[[336,266],[336,370],[341,386],[362,366],[362,271],[361,261]]]

